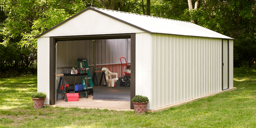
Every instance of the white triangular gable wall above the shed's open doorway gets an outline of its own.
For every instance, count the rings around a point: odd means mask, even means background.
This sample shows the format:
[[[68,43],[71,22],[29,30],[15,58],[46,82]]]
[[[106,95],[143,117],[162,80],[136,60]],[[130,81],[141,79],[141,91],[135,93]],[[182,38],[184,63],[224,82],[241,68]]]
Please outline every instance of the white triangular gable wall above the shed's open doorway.
[[[141,32],[144,31],[93,10],[87,10],[40,37]]]

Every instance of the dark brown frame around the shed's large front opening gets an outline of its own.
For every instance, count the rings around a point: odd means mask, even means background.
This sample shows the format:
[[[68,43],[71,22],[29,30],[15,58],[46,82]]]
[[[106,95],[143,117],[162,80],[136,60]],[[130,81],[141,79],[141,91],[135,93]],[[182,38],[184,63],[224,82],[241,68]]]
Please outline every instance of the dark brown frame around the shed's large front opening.
[[[131,39],[131,99],[135,96],[136,33],[50,37],[49,102],[56,104],[56,43],[67,40]],[[132,102],[130,108],[134,109]]]

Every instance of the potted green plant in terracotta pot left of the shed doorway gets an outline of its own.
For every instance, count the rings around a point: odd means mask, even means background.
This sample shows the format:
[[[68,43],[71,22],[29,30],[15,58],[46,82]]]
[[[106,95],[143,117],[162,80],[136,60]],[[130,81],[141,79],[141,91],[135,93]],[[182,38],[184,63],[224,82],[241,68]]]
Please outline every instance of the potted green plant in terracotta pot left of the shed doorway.
[[[31,94],[33,105],[35,109],[41,109],[44,106],[44,100],[46,99],[46,94],[42,92],[37,92]]]

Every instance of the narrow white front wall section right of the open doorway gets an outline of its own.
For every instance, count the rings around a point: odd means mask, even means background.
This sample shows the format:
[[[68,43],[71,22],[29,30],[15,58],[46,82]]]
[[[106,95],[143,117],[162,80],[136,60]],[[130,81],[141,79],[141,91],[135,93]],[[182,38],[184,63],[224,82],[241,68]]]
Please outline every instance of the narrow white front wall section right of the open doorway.
[[[136,95],[147,96],[151,101],[151,35],[149,33],[136,34]],[[156,84],[157,85],[157,84]],[[152,108],[150,102],[147,109]]]

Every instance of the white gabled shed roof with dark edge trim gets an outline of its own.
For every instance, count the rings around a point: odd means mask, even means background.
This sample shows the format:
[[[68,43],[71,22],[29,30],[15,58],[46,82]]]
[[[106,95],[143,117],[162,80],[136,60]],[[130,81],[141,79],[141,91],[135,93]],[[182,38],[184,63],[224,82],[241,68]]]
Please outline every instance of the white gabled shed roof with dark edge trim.
[[[103,14],[105,16],[111,17],[118,20],[119,22],[125,23],[142,31],[159,34],[174,34],[174,35],[185,35],[185,36],[195,36],[195,37],[208,37],[208,38],[221,38],[221,39],[232,39],[226,35],[217,33],[215,31],[209,30],[207,28],[201,27],[199,25],[193,24],[191,22],[184,22],[180,20],[173,20],[167,18],[160,18],[154,16],[140,15],[134,13],[127,13],[115,10],[100,9],[94,7],[87,7],[83,11],[73,15],[72,17],[64,20],[58,25],[46,30],[42,34],[38,35],[36,38],[41,37],[43,34],[53,30],[54,28],[66,23],[70,19],[80,15],[81,13],[87,11],[88,9]]]

